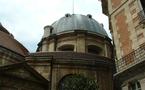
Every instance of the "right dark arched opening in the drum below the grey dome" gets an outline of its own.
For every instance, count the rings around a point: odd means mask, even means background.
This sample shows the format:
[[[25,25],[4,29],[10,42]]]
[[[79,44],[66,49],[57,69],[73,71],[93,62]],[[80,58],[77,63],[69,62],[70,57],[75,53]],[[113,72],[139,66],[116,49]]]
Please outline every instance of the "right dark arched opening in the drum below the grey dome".
[[[96,45],[88,45],[88,53],[93,53],[99,55],[102,49]]]

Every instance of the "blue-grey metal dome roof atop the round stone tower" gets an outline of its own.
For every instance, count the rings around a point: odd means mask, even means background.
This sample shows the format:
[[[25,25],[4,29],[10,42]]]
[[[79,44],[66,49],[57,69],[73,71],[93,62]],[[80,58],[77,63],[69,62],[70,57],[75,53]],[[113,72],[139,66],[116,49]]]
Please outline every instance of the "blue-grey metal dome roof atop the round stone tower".
[[[67,33],[74,30],[85,30],[87,32],[108,36],[101,24],[92,18],[91,15],[66,14],[52,24],[53,34]]]

